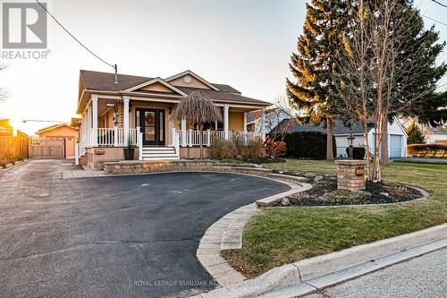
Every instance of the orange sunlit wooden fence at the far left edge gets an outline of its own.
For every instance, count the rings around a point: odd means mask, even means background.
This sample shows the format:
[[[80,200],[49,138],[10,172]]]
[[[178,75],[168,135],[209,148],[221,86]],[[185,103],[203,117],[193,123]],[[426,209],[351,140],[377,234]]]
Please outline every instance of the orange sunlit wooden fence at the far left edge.
[[[17,136],[0,136],[0,164],[29,158],[29,137],[17,131]]]

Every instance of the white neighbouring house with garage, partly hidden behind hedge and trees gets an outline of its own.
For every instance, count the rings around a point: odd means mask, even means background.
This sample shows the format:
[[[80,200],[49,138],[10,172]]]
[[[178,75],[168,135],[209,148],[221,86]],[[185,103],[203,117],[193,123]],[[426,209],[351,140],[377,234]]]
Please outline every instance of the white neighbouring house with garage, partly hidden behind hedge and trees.
[[[283,127],[285,127],[287,132],[326,132],[323,123],[320,125],[301,125],[295,119],[283,120],[283,122],[278,124],[278,126],[274,129],[274,132],[282,131]],[[365,146],[364,129],[360,123],[352,123],[349,128],[345,126],[341,120],[334,121],[333,136],[335,137],[337,157],[339,158],[347,157],[346,149],[349,147],[347,138],[350,133],[352,133],[352,136],[355,138],[353,140],[354,147]],[[405,129],[397,118],[394,118],[392,123],[388,123],[388,153],[390,158],[402,158],[407,156],[407,137],[407,132],[405,132]],[[368,139],[371,142],[371,153],[374,153],[374,127],[369,128]]]

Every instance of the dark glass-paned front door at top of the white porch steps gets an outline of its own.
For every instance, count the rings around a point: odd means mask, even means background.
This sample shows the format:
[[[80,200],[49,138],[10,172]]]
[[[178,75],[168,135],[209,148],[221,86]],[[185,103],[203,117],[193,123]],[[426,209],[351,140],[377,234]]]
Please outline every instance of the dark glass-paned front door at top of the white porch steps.
[[[136,121],[143,132],[143,145],[164,146],[164,110],[137,108]]]

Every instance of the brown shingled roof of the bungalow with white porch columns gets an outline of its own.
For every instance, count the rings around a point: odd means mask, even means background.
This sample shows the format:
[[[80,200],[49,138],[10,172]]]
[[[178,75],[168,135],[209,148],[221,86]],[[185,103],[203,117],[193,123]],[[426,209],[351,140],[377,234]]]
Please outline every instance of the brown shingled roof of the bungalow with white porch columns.
[[[135,76],[128,74],[118,74],[118,83],[114,83],[114,73],[113,72],[93,72],[93,71],[80,71],[80,95],[78,101],[78,113],[82,112],[82,107],[85,106],[87,100],[82,100],[88,93],[101,93],[106,92],[107,94],[115,93],[117,95],[129,95],[131,92],[125,92],[126,89],[131,89],[132,87],[144,84],[145,82],[152,81],[155,78]],[[163,80],[163,79],[159,79]],[[166,84],[169,84],[166,82]],[[244,97],[240,94],[240,91],[232,88],[232,86],[225,84],[215,84],[212,83],[217,89],[200,89],[193,87],[181,87],[174,86],[176,89],[180,89],[186,94],[190,94],[194,91],[202,91],[209,96],[213,101],[216,102],[227,102],[229,104],[243,104],[249,106],[271,106],[272,104],[263,100],[258,100],[255,98]],[[144,92],[135,92],[138,96],[145,96]],[[154,93],[154,92],[151,92]],[[162,92],[163,93],[163,92]],[[158,92],[158,95],[163,96]],[[168,96],[168,94],[166,94]],[[148,94],[150,97],[150,94]],[[180,96],[181,97],[181,96]],[[179,98],[180,98],[179,97]]]

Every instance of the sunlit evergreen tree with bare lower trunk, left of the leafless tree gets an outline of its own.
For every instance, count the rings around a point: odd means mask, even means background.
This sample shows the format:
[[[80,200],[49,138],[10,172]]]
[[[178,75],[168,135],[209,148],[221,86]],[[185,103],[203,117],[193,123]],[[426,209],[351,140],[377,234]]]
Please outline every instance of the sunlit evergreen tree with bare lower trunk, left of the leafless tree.
[[[341,50],[342,32],[350,1],[312,0],[306,4],[306,21],[298,38],[297,53],[291,55],[287,96],[302,113],[299,123],[325,123],[327,160],[333,160],[333,120],[336,117],[333,72],[335,56]]]

